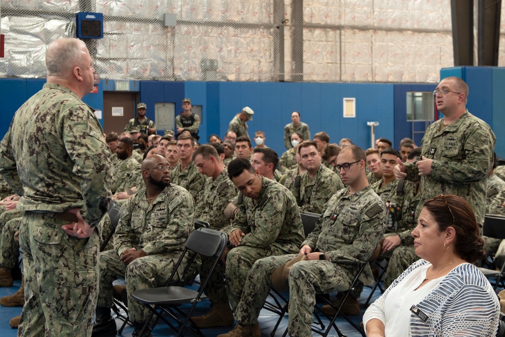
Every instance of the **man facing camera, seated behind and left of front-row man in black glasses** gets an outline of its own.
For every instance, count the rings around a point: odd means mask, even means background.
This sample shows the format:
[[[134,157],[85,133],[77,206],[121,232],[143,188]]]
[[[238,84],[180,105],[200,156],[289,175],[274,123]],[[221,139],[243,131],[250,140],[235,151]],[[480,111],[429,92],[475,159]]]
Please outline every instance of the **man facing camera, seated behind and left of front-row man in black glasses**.
[[[306,169],[290,189],[300,207],[300,212],[321,213],[326,202],[344,188],[340,177],[321,163],[317,143],[305,140],[297,149],[302,166]]]

